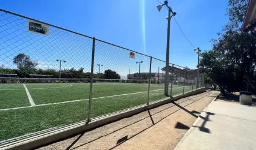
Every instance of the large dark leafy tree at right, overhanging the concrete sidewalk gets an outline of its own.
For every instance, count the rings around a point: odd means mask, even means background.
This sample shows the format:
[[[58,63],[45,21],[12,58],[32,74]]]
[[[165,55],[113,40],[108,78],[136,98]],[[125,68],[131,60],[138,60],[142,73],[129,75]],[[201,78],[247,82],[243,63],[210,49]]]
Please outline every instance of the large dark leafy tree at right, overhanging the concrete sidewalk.
[[[213,49],[201,53],[199,66],[205,68],[205,73],[220,87],[222,94],[256,91],[256,30],[240,31],[247,4],[248,0],[229,0],[229,22],[218,33],[219,38],[211,41]]]

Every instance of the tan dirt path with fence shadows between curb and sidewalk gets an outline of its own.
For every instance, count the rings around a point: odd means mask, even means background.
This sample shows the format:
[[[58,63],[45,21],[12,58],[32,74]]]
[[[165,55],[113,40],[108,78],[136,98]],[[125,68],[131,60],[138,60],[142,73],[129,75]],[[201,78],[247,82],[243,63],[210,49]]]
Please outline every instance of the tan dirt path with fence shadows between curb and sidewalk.
[[[217,94],[182,98],[40,149],[174,149]]]

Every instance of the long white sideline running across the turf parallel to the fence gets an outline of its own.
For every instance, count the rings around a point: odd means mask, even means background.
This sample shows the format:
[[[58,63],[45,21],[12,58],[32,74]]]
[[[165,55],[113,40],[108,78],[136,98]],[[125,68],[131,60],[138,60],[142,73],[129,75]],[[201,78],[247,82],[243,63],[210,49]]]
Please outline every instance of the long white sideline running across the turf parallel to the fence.
[[[185,86],[185,87],[186,87],[186,86]],[[178,87],[178,88],[183,88],[183,87]],[[176,88],[173,88],[173,89],[176,89]],[[161,91],[161,90],[164,90],[164,89],[155,89],[155,90],[152,90],[151,92],[154,92],[154,91]],[[144,91],[144,92],[134,92],[134,93],[129,93],[129,94],[111,95],[111,96],[106,96],[106,97],[96,97],[96,98],[92,98],[92,100],[101,99],[101,98],[108,98],[108,97],[119,97],[119,96],[122,96],[122,95],[140,94],[140,93],[145,93],[145,92],[148,92],[148,91]],[[63,102],[48,103],[48,104],[38,104],[38,105],[35,105],[35,106],[15,107],[15,108],[11,108],[11,109],[0,109],[0,111],[15,110],[15,109],[25,109],[25,108],[30,108],[30,107],[48,106],[48,105],[64,104],[64,103],[74,103],[74,102],[76,102],[76,101],[87,101],[87,100],[89,100],[89,99],[73,100],[73,101],[63,101]]]

